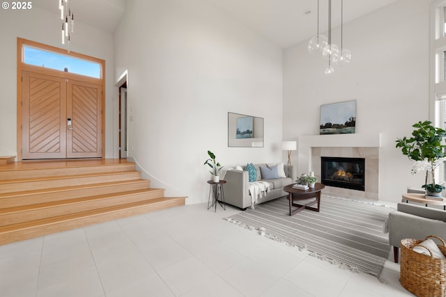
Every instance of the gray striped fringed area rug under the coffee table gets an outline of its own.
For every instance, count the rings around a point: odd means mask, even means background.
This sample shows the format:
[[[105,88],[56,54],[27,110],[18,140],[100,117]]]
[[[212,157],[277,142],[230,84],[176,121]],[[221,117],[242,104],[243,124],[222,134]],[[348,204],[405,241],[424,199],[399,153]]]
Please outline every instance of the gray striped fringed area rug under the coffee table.
[[[388,235],[383,232],[390,211],[394,209],[321,195],[321,212],[305,209],[289,216],[288,200],[279,198],[225,220],[379,278],[390,252]]]

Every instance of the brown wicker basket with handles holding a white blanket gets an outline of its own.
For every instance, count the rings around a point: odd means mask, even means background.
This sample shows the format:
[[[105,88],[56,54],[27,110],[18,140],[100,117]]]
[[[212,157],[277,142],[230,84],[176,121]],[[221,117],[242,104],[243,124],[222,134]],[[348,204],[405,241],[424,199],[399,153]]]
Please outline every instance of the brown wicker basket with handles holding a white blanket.
[[[446,255],[445,241],[437,236],[434,237],[443,243],[438,248]],[[424,240],[426,240],[424,239]],[[446,260],[436,259],[418,252],[414,252],[414,246],[420,246],[424,240],[403,239],[401,240],[401,273],[399,282],[411,293],[419,297],[446,297]]]

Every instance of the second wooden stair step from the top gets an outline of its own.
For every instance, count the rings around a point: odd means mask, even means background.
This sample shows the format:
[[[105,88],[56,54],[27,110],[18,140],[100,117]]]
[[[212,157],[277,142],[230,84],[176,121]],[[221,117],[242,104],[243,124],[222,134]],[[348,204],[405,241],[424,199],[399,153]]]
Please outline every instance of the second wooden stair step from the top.
[[[0,180],[0,193],[18,192],[42,188],[56,188],[63,186],[79,186],[82,184],[97,184],[100,182],[116,182],[118,180],[141,179],[139,171],[92,173],[87,175],[69,175],[44,178]]]

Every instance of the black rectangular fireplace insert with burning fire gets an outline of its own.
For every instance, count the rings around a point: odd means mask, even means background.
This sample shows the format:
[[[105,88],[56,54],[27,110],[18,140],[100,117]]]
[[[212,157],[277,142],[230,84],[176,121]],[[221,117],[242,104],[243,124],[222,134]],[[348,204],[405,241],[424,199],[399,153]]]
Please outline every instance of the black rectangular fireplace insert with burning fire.
[[[365,191],[365,159],[321,156],[321,182],[325,186]]]

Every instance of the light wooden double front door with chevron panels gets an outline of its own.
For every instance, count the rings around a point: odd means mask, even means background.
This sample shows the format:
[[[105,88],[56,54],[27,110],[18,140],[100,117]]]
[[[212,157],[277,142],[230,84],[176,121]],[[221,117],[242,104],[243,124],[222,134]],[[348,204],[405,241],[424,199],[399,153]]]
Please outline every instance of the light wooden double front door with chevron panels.
[[[22,159],[102,156],[102,86],[22,72]]]

